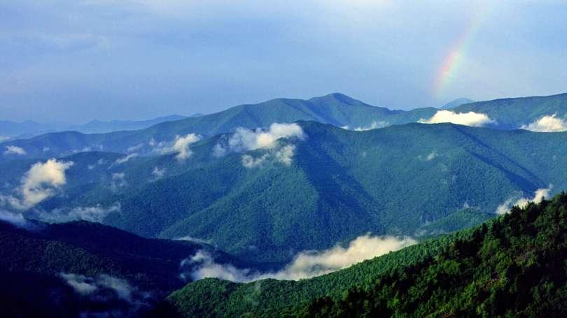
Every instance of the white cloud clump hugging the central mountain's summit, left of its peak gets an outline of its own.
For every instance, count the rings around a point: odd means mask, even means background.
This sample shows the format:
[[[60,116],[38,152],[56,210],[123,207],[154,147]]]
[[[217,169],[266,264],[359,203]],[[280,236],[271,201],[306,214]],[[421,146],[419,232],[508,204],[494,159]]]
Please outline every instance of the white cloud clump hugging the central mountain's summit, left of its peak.
[[[273,123],[269,129],[244,129],[237,128],[235,133],[228,138],[225,143],[218,143],[213,149],[215,157],[222,157],[228,152],[246,152],[250,150],[267,150],[260,157],[253,157],[250,154],[242,155],[242,166],[246,168],[255,168],[262,166],[269,159],[274,159],[286,166],[290,166],[293,155],[295,154],[295,145],[281,145],[279,139],[304,139],[305,133],[298,124],[279,124]]]

